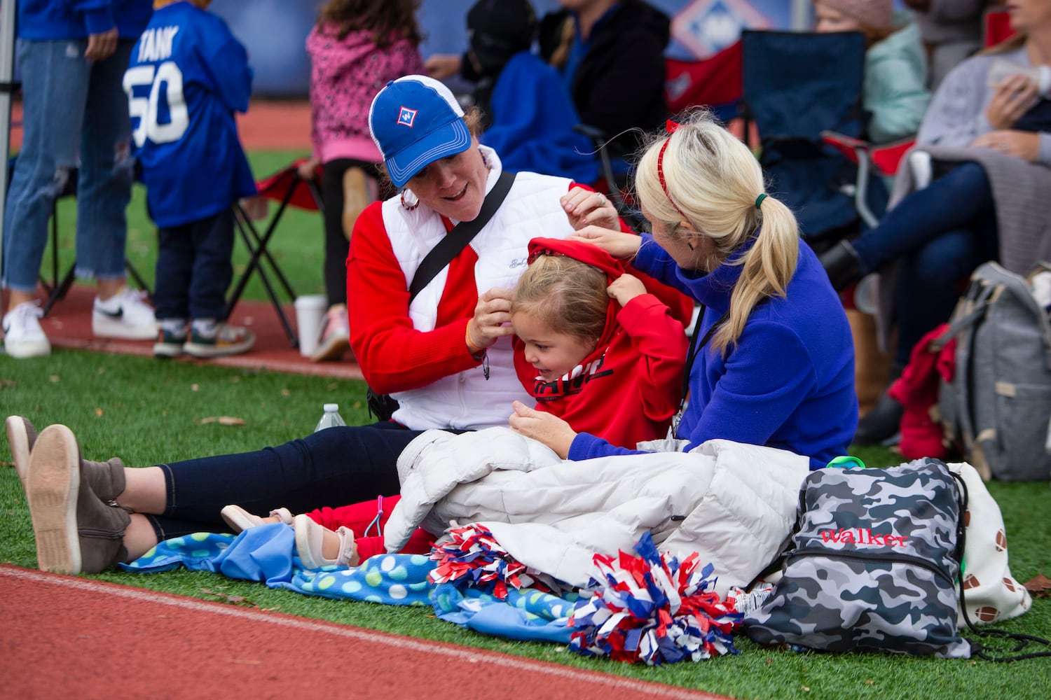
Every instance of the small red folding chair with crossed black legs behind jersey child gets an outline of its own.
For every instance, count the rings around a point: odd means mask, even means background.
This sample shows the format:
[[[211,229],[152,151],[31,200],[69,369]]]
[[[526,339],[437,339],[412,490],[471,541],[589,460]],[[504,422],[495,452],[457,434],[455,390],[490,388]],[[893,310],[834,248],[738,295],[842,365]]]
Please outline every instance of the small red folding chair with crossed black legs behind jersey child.
[[[295,301],[295,292],[292,291],[292,285],[282,272],[281,267],[273,259],[273,256],[270,255],[268,246],[270,245],[270,239],[273,237],[274,231],[277,229],[277,225],[281,222],[282,215],[284,215],[285,210],[289,205],[298,207],[300,209],[306,209],[308,211],[322,212],[324,214],[325,206],[322,204],[320,190],[322,168],[318,166],[314,171],[313,179],[304,179],[300,176],[298,171],[301,163],[303,163],[303,158],[295,161],[286,168],[275,172],[269,177],[259,181],[255,184],[259,189],[260,196],[280,203],[277,211],[274,213],[273,218],[270,219],[270,222],[267,225],[266,230],[263,231],[262,234],[259,232],[259,229],[256,229],[251,218],[249,218],[241,204],[234,203],[234,221],[236,222],[238,231],[241,233],[241,238],[245,243],[245,248],[248,249],[250,257],[248,259],[248,266],[245,268],[245,271],[241,273],[241,277],[233,285],[233,291],[230,292],[230,296],[226,302],[226,315],[224,316],[224,319],[228,319],[230,317],[233,313],[234,306],[238,305],[238,301],[241,300],[241,295],[244,293],[245,287],[248,284],[248,280],[251,278],[253,273],[257,272],[260,280],[263,282],[263,287],[266,289],[267,295],[270,297],[273,310],[276,312],[277,319],[281,321],[281,325],[285,330],[285,335],[288,337],[288,341],[292,344],[292,347],[298,347],[298,338],[292,330],[292,326],[288,321],[288,317],[285,315],[285,312],[281,306],[281,299],[279,298],[277,290],[275,290],[271,283],[270,276],[263,267],[263,262],[265,260],[269,264],[270,272],[277,278],[277,281],[281,283],[285,294],[288,296],[288,300]]]

